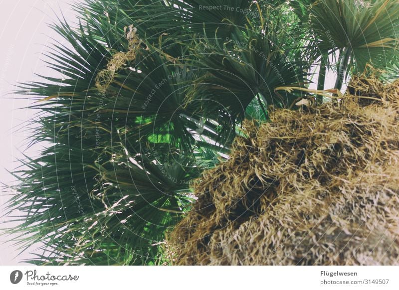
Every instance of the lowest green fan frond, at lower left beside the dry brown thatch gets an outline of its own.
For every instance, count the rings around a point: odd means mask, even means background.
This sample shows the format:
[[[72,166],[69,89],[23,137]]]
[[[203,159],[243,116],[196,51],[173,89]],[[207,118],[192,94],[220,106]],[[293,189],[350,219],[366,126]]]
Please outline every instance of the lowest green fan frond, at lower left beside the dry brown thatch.
[[[99,155],[55,145],[39,159],[28,159],[29,173],[16,172],[26,185],[15,188],[20,194],[11,200],[26,213],[15,229],[23,229],[21,245],[51,245],[40,259],[45,264],[154,263],[149,257],[190,206],[190,180],[200,172],[190,159],[175,158],[150,159],[123,145]]]

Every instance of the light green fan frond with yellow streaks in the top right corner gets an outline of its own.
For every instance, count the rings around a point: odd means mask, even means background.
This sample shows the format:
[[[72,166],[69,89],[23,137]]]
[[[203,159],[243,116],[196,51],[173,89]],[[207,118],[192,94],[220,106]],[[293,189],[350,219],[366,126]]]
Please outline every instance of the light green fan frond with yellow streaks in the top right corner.
[[[398,60],[398,1],[318,0],[310,13],[320,49],[349,49],[355,71],[368,63],[385,69]]]

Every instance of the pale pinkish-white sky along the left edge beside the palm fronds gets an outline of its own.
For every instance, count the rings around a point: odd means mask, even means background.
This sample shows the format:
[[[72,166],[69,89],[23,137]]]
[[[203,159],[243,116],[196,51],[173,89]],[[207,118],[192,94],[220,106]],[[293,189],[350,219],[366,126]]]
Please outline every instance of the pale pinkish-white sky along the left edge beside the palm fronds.
[[[68,21],[74,21],[74,12],[70,4],[76,0],[0,0],[0,182],[11,184],[13,177],[7,172],[13,171],[22,158],[20,151],[28,156],[37,155],[40,147],[25,150],[27,132],[22,132],[23,123],[33,116],[31,110],[20,109],[31,102],[16,100],[17,96],[8,94],[14,90],[17,82],[37,80],[33,73],[54,76],[41,61],[45,45],[50,45],[52,38],[62,40],[47,27],[46,23],[56,21],[55,15],[60,11]],[[19,97],[20,98],[20,97]],[[19,131],[18,131],[19,130]],[[8,190],[0,188],[0,216],[4,211],[4,203],[8,199]],[[0,217],[0,221],[4,218]],[[1,224],[6,228],[10,224]],[[0,265],[16,265],[31,257],[28,252],[17,256],[17,249],[11,243],[3,244],[10,237],[0,235]],[[34,249],[31,249],[34,251]]]

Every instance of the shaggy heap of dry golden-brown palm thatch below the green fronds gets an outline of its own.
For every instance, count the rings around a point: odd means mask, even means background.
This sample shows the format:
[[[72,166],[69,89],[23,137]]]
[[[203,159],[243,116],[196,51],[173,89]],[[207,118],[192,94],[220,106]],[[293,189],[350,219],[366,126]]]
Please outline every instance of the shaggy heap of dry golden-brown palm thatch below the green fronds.
[[[399,264],[399,81],[351,89],[366,98],[245,123],[168,234],[171,263]]]

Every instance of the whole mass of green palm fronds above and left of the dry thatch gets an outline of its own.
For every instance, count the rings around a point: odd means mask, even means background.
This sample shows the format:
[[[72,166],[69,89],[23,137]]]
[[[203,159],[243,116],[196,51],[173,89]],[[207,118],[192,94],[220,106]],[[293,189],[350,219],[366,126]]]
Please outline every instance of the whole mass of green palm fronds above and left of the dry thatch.
[[[165,231],[195,202],[201,172],[228,158],[244,119],[268,122],[271,105],[295,109],[310,96],[315,65],[319,89],[329,69],[340,89],[368,64],[397,68],[394,0],[74,8],[77,25],[52,25],[70,45],[54,43],[46,55],[64,78],[19,84],[39,112],[31,142],[46,144],[13,172],[20,183],[9,204],[25,213],[12,230],[17,244],[43,243],[35,264],[167,263]]]

